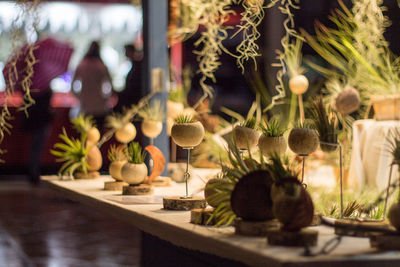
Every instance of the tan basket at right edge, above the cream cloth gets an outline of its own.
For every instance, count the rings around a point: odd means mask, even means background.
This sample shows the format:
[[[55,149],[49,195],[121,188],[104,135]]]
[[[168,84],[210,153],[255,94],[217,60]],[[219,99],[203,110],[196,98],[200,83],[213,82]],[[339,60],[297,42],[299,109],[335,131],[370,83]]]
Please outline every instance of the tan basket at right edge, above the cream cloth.
[[[371,104],[376,120],[400,120],[400,95],[373,96]]]

